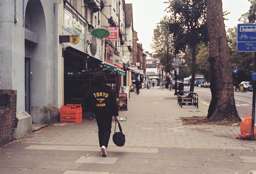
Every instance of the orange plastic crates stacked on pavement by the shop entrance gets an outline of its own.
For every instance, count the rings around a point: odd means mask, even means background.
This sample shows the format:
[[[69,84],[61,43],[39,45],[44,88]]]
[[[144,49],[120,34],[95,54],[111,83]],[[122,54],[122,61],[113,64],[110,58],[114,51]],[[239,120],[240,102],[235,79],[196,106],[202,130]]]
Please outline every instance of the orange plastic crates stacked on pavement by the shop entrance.
[[[62,105],[60,108],[60,122],[79,123],[82,122],[82,107],[80,104]]]

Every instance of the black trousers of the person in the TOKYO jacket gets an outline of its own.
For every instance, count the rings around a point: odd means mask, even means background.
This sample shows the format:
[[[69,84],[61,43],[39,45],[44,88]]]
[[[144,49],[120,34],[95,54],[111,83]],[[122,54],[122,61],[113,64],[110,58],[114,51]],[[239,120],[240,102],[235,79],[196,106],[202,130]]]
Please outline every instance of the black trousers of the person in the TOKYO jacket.
[[[109,138],[111,134],[112,116],[95,115],[98,125],[99,144],[101,146],[108,147]]]

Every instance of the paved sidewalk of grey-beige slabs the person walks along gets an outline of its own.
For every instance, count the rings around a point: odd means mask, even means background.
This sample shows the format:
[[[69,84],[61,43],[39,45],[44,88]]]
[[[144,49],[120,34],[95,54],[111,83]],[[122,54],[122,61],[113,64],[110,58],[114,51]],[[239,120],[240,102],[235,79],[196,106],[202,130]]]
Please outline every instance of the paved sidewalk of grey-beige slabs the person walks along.
[[[240,127],[182,125],[180,117],[206,116],[208,106],[199,100],[198,108],[181,108],[174,90],[155,87],[130,93],[128,110],[119,112],[127,117],[121,121],[126,143],[117,147],[110,139],[107,157],[100,154],[95,119],[83,117],[7,144],[0,173],[256,173],[255,141],[236,139]]]

